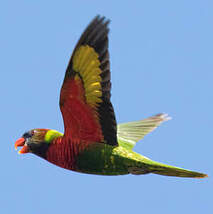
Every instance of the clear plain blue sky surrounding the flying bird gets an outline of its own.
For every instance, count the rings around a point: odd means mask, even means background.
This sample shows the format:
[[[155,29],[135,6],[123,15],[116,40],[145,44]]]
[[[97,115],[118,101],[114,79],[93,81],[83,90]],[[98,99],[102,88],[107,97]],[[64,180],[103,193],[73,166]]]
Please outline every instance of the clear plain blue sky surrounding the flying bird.
[[[1,1],[1,212],[213,213],[212,11],[211,0]],[[209,178],[84,175],[14,150],[32,128],[63,131],[65,69],[97,14],[111,20],[117,121],[173,118],[135,151]]]

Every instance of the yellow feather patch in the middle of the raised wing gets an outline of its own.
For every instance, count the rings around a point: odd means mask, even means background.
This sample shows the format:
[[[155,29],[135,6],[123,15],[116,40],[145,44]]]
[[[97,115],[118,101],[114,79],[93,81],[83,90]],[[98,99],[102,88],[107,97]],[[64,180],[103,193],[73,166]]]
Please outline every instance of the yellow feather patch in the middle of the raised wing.
[[[101,103],[101,69],[98,54],[88,45],[80,46],[73,56],[73,70],[80,74],[86,101],[92,107]]]

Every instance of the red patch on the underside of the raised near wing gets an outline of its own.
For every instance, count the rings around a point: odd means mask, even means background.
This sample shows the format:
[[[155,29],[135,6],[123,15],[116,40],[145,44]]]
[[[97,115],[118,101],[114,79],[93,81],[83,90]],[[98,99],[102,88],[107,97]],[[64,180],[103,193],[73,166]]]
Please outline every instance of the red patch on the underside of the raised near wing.
[[[82,81],[67,79],[61,89],[61,112],[66,137],[73,141],[101,142],[102,131],[95,112],[85,102]]]

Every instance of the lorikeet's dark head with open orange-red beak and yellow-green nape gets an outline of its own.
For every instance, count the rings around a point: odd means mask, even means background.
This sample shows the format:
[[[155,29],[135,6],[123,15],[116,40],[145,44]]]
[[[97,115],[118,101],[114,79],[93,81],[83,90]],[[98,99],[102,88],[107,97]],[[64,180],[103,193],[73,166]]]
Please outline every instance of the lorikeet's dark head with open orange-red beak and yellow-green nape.
[[[34,153],[45,158],[46,151],[55,137],[61,133],[51,129],[32,129],[25,132],[21,138],[15,142],[15,149],[22,147],[19,154]]]

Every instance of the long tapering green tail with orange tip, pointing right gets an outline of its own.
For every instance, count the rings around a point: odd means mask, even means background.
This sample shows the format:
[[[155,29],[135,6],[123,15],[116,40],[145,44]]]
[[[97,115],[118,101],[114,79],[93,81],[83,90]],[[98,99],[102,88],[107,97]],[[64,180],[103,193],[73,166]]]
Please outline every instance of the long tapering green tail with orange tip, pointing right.
[[[152,161],[148,158],[143,160],[141,167],[130,167],[129,172],[134,175],[141,175],[147,173],[154,173],[158,175],[176,176],[185,178],[206,178],[207,174],[186,170],[183,168],[166,165],[156,161]]]

